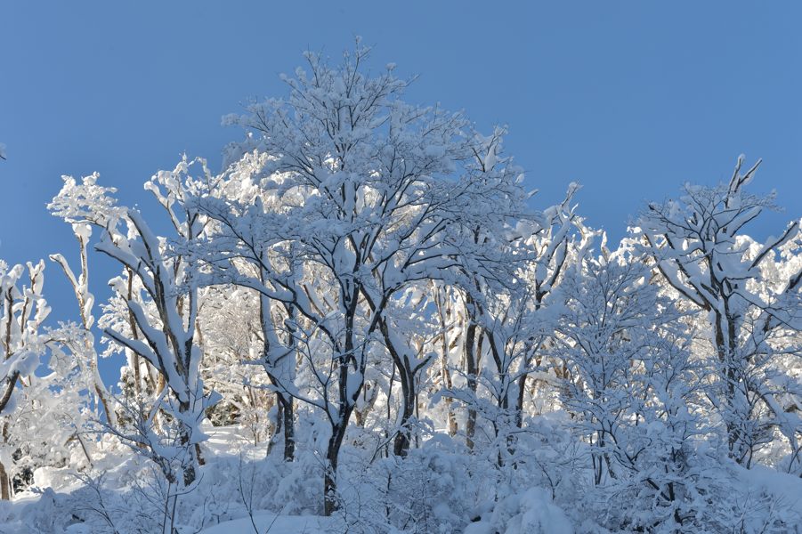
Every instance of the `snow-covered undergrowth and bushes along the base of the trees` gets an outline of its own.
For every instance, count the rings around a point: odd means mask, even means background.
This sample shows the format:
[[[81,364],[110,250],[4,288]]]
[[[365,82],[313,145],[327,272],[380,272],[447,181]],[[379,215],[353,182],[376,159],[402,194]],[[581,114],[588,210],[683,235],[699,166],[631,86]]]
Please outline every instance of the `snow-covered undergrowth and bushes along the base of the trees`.
[[[537,449],[517,455],[514,469],[466,454],[447,436],[434,436],[400,460],[369,462],[364,450],[344,449],[340,507],[322,517],[322,462],[298,450],[296,461],[248,444],[237,427],[206,427],[206,465],[191,489],[170,488],[147,460],[106,444],[93,451],[92,470],[43,467],[34,484],[0,503],[0,532],[72,534],[170,532],[410,532],[465,534],[594,534],[674,532],[660,527],[653,498],[614,482],[588,487],[587,450],[569,449],[546,422]],[[564,438],[564,436],[563,436]],[[362,440],[364,436],[352,436]],[[351,440],[349,440],[351,441]],[[711,465],[707,494],[693,503],[687,532],[797,532],[802,479],[773,469]],[[172,497],[177,495],[177,499]],[[649,523],[652,527],[649,528]],[[604,525],[620,524],[609,530]],[[629,525],[628,527],[625,525]],[[693,526],[692,526],[693,525]]]

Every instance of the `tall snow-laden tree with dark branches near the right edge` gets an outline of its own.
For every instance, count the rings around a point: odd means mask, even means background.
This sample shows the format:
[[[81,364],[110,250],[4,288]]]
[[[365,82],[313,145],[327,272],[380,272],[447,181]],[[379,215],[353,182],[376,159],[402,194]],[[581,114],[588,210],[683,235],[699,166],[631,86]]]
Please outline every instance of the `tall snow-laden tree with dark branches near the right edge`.
[[[796,352],[775,341],[802,328],[802,266],[792,261],[781,279],[769,282],[762,265],[781,253],[795,254],[802,234],[792,222],[778,237],[752,246],[743,229],[774,206],[774,196],[745,190],[757,165],[741,174],[742,162],[726,184],[686,184],[682,197],[650,204],[636,232],[663,279],[709,322],[718,374],[715,409],[730,456],[749,466],[772,440],[774,427],[797,448],[799,418],[785,415],[782,397],[789,387],[797,392],[798,384],[774,364],[778,351],[790,357]]]

